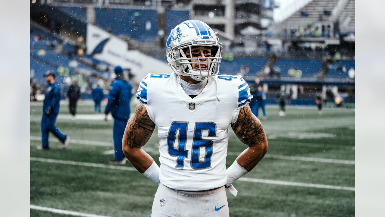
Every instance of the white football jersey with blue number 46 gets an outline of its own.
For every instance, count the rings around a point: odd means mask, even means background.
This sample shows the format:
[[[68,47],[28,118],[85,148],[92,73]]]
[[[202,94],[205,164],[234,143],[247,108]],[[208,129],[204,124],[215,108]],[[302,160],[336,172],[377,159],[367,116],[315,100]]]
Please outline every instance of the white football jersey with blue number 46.
[[[228,127],[253,96],[241,76],[217,75],[191,98],[178,76],[148,74],[136,93],[158,128],[159,180],[176,190],[221,187],[227,181]]]

